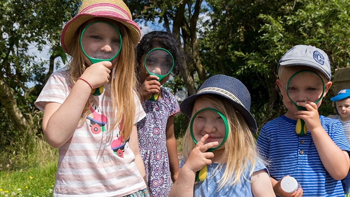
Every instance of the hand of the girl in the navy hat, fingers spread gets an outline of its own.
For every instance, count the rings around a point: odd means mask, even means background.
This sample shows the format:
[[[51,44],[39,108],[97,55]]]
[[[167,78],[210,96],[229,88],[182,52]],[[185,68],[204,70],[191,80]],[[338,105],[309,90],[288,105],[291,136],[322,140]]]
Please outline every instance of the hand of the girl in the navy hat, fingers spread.
[[[214,157],[214,153],[206,152],[206,150],[219,145],[219,142],[209,142],[204,144],[208,136],[208,134],[204,135],[201,140],[197,142],[184,164],[184,166],[189,168],[194,173],[200,171],[203,166],[211,164],[211,160],[209,158]]]

